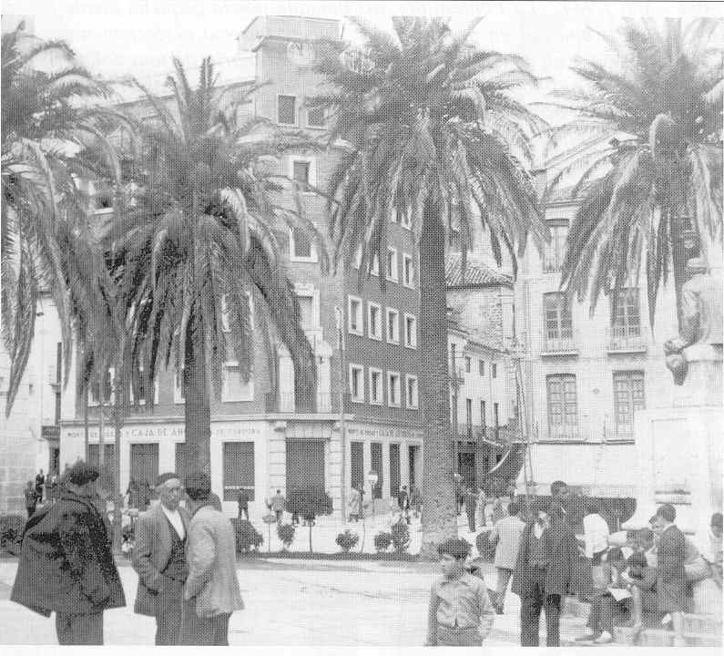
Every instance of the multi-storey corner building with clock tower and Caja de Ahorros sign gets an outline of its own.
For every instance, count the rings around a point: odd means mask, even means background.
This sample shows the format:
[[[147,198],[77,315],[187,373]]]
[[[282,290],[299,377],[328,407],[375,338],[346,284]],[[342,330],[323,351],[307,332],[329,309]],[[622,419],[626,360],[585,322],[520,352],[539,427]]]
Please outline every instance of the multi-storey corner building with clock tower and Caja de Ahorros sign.
[[[307,108],[305,100],[317,93],[322,82],[312,68],[315,48],[321,39],[336,38],[338,32],[335,20],[297,16],[253,20],[241,33],[240,48],[255,55],[255,75],[240,76],[235,85],[267,84],[256,91],[249,111],[281,127],[321,136],[326,117]],[[333,149],[300,149],[281,159],[267,159],[266,165],[270,171],[323,189],[336,157]],[[326,233],[325,201],[314,193],[302,196],[307,216]],[[302,323],[317,360],[315,411],[309,411],[304,399],[295,398],[291,357],[282,345],[274,345],[269,357],[259,334],[248,384],[240,382],[238,363],[226,364],[221,399],[212,399],[211,406],[211,478],[229,512],[236,510],[241,487],[250,491],[252,514],[254,510],[259,514],[276,489],[321,489],[339,509],[352,485],[367,487],[374,498],[393,496],[402,485],[422,485],[417,258],[412,226],[396,216],[390,220],[386,267],[373,262],[362,281],[359,264],[323,274],[317,244],[301,231],[276,227],[285,245],[283,264],[299,296]],[[386,272],[384,292],[380,271]],[[278,384],[273,382],[272,369],[278,373]],[[180,374],[159,372],[154,407],[134,410],[127,418],[120,452],[122,489],[130,478],[152,483],[159,471],[180,470],[184,448]],[[112,383],[108,372],[90,394],[88,440],[94,460],[101,451],[98,405],[112,399]],[[83,413],[83,400],[76,399],[64,415],[63,462],[84,453]],[[111,425],[104,426],[103,437],[103,456],[109,459],[114,448]],[[377,483],[370,489],[372,471]]]

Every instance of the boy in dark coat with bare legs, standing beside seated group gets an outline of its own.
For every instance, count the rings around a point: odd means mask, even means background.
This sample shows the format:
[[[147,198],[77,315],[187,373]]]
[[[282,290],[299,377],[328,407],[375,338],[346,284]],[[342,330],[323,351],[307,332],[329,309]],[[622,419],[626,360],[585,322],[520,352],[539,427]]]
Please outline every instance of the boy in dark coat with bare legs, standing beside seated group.
[[[668,504],[656,513],[658,542],[658,578],[656,583],[658,610],[671,614],[675,647],[683,647],[684,611],[687,610],[687,573],[684,569],[687,540],[674,524],[677,510]]]

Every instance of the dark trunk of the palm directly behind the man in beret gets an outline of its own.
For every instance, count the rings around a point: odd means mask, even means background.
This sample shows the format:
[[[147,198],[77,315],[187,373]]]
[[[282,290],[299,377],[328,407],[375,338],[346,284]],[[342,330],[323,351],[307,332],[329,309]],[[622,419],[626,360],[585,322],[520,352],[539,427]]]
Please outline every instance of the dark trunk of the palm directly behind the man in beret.
[[[211,413],[206,378],[206,351],[203,323],[194,318],[193,311],[186,329],[184,385],[186,406],[186,454],[184,471],[203,471],[210,475]]]

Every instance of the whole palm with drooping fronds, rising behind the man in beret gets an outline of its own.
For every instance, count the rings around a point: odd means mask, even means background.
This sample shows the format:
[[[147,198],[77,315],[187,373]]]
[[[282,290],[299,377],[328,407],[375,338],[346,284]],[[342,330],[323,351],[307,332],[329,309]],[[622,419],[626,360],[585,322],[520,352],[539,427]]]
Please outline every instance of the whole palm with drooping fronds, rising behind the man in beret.
[[[308,139],[280,133],[262,119],[242,120],[237,108],[243,98],[224,106],[209,58],[196,88],[178,60],[174,67],[176,75],[167,80],[172,108],[145,90],[154,117],[138,126],[132,177],[140,186],[107,243],[127,299],[129,366],[121,384],[132,383],[130,372],[142,365],[150,404],[159,368],[183,367],[185,468],[208,471],[209,393],[220,395],[230,354],[242,380],[249,380],[252,313],[254,332],[265,336],[269,350],[279,341],[289,348],[297,398],[316,389],[311,345],[276,231],[306,230],[325,251],[299,195],[296,206],[280,200],[293,181],[260,166],[263,156],[308,147]]]

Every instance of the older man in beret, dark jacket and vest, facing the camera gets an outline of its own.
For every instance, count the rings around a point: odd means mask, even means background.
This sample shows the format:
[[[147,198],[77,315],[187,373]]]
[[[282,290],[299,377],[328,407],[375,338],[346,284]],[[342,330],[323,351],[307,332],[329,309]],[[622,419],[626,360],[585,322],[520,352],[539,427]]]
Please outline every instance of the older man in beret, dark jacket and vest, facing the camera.
[[[160,502],[138,516],[133,569],[138,573],[138,593],[133,610],[156,618],[156,644],[178,644],[181,602],[188,574],[186,535],[189,516],[178,507],[183,487],[177,474],[156,480]]]

